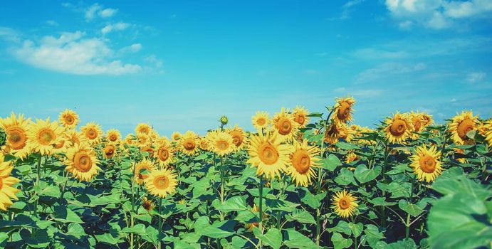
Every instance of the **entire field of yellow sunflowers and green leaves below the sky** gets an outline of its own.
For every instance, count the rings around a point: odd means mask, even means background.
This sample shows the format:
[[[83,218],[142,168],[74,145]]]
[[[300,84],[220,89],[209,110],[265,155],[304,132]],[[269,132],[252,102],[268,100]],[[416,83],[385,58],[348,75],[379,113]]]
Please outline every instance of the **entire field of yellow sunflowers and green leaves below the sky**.
[[[490,248],[492,120],[226,116],[122,137],[73,110],[0,118],[0,248]]]

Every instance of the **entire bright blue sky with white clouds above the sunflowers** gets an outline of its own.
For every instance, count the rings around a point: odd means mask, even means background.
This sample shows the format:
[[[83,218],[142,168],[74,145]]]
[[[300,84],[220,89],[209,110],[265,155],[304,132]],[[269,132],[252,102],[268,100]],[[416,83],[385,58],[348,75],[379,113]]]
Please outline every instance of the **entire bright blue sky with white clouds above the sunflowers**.
[[[3,1],[0,116],[204,133],[221,115],[492,114],[492,0]]]

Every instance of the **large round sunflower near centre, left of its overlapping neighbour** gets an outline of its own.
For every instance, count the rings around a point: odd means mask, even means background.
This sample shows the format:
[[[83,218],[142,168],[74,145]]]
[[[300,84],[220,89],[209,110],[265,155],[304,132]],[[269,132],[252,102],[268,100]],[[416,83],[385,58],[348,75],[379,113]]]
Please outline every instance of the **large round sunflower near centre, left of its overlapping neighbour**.
[[[281,139],[276,135],[262,133],[253,135],[249,144],[247,163],[257,168],[258,176],[265,175],[267,179],[273,179],[275,176],[280,177],[281,172],[287,170],[291,145],[281,144]]]

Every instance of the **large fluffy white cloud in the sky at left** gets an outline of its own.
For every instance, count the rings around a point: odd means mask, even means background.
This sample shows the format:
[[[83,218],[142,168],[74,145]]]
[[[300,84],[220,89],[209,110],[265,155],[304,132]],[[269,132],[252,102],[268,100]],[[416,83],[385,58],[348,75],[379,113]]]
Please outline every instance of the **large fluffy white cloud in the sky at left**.
[[[23,41],[20,48],[12,49],[23,63],[76,75],[122,75],[138,73],[140,65],[113,60],[113,51],[100,38],[83,38],[85,34],[62,33],[59,37],[45,36],[39,42]]]

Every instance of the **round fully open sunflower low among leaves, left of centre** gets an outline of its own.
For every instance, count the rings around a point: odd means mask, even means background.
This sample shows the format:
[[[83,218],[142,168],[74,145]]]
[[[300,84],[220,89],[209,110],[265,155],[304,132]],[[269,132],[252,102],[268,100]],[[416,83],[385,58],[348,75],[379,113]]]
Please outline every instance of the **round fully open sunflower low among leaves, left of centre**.
[[[145,187],[153,196],[165,198],[176,191],[176,178],[177,175],[171,169],[156,169],[145,179]]]

